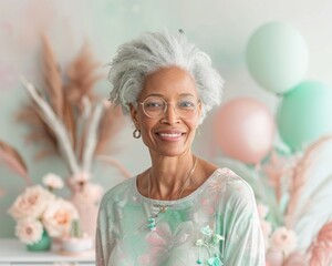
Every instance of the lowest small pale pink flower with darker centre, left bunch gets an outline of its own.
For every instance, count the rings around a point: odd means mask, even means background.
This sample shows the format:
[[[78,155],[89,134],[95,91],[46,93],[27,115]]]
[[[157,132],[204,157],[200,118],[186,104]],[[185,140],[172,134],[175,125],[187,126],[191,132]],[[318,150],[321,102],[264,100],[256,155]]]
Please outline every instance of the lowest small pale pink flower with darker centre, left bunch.
[[[33,244],[41,239],[43,225],[38,219],[20,219],[15,226],[15,235],[24,244]]]

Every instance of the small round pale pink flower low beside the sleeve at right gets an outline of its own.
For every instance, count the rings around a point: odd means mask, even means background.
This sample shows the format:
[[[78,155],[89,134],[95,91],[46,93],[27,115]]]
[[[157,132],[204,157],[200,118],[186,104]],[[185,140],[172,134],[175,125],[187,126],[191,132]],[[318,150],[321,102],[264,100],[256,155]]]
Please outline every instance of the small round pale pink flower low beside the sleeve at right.
[[[278,250],[288,256],[297,246],[297,235],[286,227],[277,228],[270,239],[270,249]]]

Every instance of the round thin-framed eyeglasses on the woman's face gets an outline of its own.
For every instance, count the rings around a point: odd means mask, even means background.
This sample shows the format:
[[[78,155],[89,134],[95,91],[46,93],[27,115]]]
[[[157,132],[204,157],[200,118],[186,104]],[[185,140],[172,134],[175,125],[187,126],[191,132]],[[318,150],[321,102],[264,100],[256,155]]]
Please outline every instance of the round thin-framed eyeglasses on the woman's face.
[[[165,99],[160,96],[148,96],[138,103],[142,104],[143,112],[146,116],[159,119],[167,111],[168,104],[173,102],[166,102]],[[175,103],[174,110],[181,119],[194,117],[200,104],[199,100],[190,95],[181,96]]]

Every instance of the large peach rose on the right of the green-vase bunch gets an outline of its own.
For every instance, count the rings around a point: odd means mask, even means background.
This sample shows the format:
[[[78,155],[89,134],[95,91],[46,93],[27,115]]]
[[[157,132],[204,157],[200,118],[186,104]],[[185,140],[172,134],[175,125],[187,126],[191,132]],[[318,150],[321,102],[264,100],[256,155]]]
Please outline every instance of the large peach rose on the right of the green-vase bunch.
[[[72,203],[56,198],[44,212],[42,221],[50,236],[64,237],[69,234],[73,219],[77,217],[77,211]]]

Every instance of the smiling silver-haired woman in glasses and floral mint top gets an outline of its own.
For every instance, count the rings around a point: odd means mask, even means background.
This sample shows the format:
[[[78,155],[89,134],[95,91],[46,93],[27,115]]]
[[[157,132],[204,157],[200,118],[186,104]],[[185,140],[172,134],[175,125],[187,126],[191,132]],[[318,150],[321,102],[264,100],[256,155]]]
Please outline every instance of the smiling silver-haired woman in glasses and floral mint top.
[[[110,80],[111,101],[131,116],[152,165],[104,195],[96,265],[264,265],[251,188],[191,151],[221,100],[209,57],[181,32],[144,33],[120,47]]]

